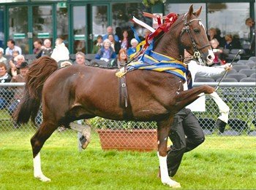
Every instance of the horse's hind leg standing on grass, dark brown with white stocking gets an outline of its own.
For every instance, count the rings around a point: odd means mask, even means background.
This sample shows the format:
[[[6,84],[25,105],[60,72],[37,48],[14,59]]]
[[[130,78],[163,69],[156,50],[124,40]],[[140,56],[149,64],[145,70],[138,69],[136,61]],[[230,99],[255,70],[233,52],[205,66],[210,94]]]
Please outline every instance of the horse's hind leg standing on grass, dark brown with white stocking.
[[[33,151],[34,177],[38,178],[40,181],[50,181],[50,178],[47,178],[42,173],[39,151],[42,149],[45,140],[50,137],[57,127],[58,126],[56,124],[43,121],[37,132],[30,140]]]

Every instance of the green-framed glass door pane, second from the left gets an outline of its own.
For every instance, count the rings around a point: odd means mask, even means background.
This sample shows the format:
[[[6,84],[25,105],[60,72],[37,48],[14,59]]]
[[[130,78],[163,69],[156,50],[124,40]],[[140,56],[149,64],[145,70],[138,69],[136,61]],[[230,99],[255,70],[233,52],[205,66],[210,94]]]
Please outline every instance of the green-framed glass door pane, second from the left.
[[[32,31],[33,41],[40,39],[50,39],[54,47],[53,41],[53,6],[40,5],[32,7]]]

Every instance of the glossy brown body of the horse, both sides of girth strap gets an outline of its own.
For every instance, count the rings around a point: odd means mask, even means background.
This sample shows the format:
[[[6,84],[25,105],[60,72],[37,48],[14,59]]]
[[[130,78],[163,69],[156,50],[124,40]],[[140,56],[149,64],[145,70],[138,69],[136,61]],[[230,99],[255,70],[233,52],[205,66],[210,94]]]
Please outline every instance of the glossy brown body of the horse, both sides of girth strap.
[[[181,84],[178,82],[180,79],[164,72],[136,70],[126,74],[129,94],[129,105],[126,109],[131,118],[125,118],[119,102],[120,90],[115,74],[116,70],[90,66],[63,68],[45,82],[42,104],[50,113],[56,114],[55,118],[64,125],[72,120],[94,116],[152,121],[177,111],[170,110],[170,107],[175,102],[171,97],[178,89],[177,84]],[[173,82],[173,79],[176,82]],[[53,97],[58,96],[58,101],[53,100]],[[67,116],[70,118],[69,121],[64,119]]]

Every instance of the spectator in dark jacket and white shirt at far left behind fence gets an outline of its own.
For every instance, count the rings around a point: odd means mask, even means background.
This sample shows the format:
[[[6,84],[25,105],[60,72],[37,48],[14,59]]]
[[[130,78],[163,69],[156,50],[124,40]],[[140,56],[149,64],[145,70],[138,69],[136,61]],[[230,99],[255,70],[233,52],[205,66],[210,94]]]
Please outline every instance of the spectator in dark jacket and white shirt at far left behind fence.
[[[7,73],[7,66],[4,63],[0,63],[0,82],[10,82],[12,76]],[[8,100],[10,99],[10,92],[5,87],[0,87],[0,109],[4,109]]]

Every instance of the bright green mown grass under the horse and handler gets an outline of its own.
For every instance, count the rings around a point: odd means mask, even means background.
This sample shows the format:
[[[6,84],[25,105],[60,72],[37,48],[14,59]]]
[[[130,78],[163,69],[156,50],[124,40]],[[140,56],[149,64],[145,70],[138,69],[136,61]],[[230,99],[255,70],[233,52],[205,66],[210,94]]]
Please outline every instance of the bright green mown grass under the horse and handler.
[[[170,189],[157,178],[156,152],[102,151],[97,135],[79,152],[75,132],[46,141],[42,171],[52,181],[42,183],[33,177],[31,132],[9,133],[0,138],[0,189]],[[255,137],[207,137],[173,179],[183,189],[255,189],[255,150]]]

